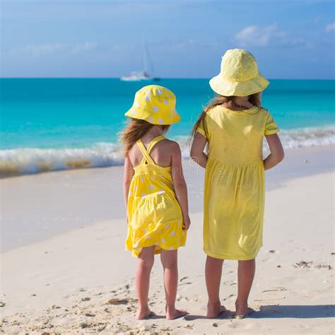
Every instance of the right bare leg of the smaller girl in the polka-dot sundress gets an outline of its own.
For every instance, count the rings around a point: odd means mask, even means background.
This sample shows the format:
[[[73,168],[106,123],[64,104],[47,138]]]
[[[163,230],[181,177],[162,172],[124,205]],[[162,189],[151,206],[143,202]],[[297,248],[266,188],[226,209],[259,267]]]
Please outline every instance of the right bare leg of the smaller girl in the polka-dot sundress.
[[[176,319],[187,315],[184,310],[176,310],[175,301],[177,296],[178,285],[178,267],[177,267],[177,249],[163,250],[160,254],[164,269],[164,288],[166,300],[166,318],[168,320]]]

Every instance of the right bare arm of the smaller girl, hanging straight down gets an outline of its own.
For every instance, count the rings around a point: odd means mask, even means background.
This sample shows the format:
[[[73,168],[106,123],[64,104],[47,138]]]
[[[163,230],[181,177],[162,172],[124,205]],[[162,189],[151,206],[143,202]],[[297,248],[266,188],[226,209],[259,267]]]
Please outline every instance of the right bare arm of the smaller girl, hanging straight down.
[[[182,153],[178,143],[174,143],[172,148],[172,181],[175,187],[177,201],[182,209],[183,229],[189,229],[191,224],[189,220],[189,204],[187,201],[187,186],[182,172]]]

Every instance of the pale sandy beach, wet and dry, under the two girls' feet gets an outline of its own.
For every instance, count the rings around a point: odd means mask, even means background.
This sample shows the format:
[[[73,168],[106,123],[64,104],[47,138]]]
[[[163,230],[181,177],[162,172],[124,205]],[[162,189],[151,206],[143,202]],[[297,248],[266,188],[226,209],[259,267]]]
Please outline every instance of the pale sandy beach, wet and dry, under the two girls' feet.
[[[4,334],[334,334],[334,147],[287,151],[266,172],[264,246],[249,297],[256,312],[206,319],[203,172],[185,163],[192,226],[180,249],[177,306],[164,318],[159,257],[155,319],[136,321],[136,259],[124,250],[122,167],[1,180]],[[237,262],[226,261],[222,302],[233,311]]]

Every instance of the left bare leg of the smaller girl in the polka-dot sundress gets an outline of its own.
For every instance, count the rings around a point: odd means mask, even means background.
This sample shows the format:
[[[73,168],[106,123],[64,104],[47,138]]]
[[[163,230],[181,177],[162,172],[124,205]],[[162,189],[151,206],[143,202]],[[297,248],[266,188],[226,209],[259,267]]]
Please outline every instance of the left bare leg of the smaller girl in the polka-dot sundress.
[[[145,319],[151,315],[148,307],[148,293],[154,250],[155,246],[143,248],[141,254],[139,254],[139,263],[136,269],[136,294],[139,299],[139,309],[136,313],[136,319],[138,320]]]

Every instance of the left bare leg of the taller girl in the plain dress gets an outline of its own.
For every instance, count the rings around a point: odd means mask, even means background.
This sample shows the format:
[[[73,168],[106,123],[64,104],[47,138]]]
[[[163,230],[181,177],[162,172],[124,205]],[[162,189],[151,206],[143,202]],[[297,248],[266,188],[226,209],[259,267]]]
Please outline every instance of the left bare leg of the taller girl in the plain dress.
[[[207,317],[218,317],[225,311],[220,302],[220,283],[223,259],[207,256],[205,266],[206,287],[208,293]]]

